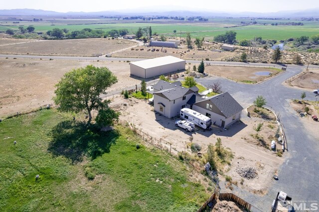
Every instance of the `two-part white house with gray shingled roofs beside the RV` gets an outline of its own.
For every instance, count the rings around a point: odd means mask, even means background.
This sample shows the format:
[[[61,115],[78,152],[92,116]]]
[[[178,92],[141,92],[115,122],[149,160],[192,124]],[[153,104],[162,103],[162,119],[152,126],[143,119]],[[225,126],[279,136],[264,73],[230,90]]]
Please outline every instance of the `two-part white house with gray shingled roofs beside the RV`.
[[[168,118],[179,115],[181,108],[190,108],[211,118],[212,122],[227,127],[240,120],[243,107],[228,92],[202,98],[198,88],[183,88],[180,82],[160,80],[154,86],[154,111]]]

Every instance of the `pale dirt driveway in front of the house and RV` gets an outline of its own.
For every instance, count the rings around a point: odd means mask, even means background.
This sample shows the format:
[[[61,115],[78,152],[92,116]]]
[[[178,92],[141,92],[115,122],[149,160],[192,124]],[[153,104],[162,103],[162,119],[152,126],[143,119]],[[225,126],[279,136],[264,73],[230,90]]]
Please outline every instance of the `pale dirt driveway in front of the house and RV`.
[[[126,104],[127,106],[124,106]],[[258,177],[245,180],[243,188],[249,191],[267,190],[272,176],[277,168],[283,163],[284,158],[278,157],[269,149],[257,146],[246,141],[245,137],[255,133],[253,126],[258,121],[256,118],[248,118],[243,111],[243,123],[238,122],[230,127],[229,130],[223,130],[214,127],[212,131],[196,129],[193,132],[185,132],[183,129],[175,126],[177,118],[169,119],[160,114],[154,113],[153,107],[144,101],[121,98],[115,98],[111,104],[112,107],[121,111],[121,120],[133,122],[135,126],[144,132],[158,139],[162,138],[172,143],[172,148],[179,151],[189,151],[186,144],[189,137],[193,136],[193,143],[202,146],[202,152],[206,151],[208,144],[215,144],[217,137],[222,139],[222,144],[234,152],[234,159],[231,166],[225,167],[224,174],[232,176],[234,181],[240,181],[241,177],[235,172],[238,165],[248,165],[256,167]]]

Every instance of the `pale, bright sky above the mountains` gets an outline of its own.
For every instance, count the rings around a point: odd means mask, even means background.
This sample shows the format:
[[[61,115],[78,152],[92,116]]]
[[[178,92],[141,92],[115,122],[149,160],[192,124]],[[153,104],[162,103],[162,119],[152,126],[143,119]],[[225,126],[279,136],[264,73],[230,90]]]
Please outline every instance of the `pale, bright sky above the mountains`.
[[[67,11],[130,10],[144,7],[157,10],[205,10],[232,12],[277,12],[319,7],[319,0],[3,0],[0,9],[44,9]]]

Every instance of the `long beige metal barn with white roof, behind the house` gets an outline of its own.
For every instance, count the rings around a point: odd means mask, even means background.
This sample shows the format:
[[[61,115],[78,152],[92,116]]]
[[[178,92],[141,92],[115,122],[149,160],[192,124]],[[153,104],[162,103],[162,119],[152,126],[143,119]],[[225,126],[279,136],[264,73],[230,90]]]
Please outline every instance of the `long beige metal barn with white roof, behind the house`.
[[[131,75],[150,78],[185,69],[185,60],[173,56],[158,57],[130,63]]]

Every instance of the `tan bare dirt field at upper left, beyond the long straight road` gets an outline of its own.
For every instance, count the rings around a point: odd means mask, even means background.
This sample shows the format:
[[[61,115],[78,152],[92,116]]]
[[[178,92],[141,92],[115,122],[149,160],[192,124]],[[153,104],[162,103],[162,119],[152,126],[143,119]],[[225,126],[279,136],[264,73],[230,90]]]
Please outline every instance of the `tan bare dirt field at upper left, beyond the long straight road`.
[[[92,56],[93,54],[107,54],[135,45],[137,43],[130,40],[108,38],[41,40],[41,42],[1,46],[1,54]]]

